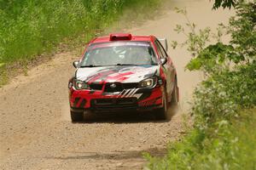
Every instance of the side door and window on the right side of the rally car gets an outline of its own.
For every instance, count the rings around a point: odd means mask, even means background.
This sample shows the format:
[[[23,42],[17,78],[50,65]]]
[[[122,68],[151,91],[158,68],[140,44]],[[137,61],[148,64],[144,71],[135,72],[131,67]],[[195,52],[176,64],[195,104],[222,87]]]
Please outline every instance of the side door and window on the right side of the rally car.
[[[175,68],[172,64],[172,59],[168,56],[166,53],[166,50],[163,48],[159,40],[155,40],[157,50],[159,51],[160,58],[166,58],[167,62],[166,65],[162,65],[163,71],[165,71],[166,74],[166,92],[169,97],[171,97],[172,89],[174,87],[174,80],[175,80]],[[171,98],[170,98],[171,99]]]

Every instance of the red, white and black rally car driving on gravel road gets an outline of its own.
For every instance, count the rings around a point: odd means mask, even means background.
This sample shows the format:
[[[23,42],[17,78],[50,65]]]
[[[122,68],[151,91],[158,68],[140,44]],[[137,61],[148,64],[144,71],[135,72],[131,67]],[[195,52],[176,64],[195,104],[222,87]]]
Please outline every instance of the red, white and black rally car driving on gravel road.
[[[166,119],[168,103],[178,102],[177,72],[166,48],[154,36],[90,41],[68,83],[72,122],[82,121],[86,111],[155,110]]]

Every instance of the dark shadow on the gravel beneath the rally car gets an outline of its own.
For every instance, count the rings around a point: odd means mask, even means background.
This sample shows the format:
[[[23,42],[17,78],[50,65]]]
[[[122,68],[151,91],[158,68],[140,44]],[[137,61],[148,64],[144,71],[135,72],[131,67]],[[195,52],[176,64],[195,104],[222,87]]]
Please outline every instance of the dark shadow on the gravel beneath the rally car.
[[[137,123],[137,122],[170,122],[172,116],[177,114],[178,105],[170,105],[168,108],[168,116],[166,120],[159,120],[156,117],[156,111],[118,111],[118,112],[98,112],[85,113],[83,122],[76,123]]]

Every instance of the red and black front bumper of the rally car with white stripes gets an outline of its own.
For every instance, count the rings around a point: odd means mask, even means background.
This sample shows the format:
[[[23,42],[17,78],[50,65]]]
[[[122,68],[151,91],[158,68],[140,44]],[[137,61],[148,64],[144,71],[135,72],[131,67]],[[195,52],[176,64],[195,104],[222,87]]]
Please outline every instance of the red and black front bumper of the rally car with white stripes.
[[[118,93],[70,88],[71,111],[148,111],[162,107],[163,87],[125,89]]]

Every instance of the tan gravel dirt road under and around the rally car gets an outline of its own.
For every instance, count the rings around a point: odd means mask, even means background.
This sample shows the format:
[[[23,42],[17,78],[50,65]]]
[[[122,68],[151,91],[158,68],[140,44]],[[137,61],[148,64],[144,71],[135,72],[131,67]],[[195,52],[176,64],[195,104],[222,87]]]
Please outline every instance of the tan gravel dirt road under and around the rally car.
[[[180,3],[182,2],[182,3]],[[172,1],[186,7],[189,18],[198,26],[217,26],[230,11],[211,11],[208,1]],[[171,40],[183,40],[173,30],[184,22],[183,16],[167,10],[157,20],[129,30],[132,34],[153,34]],[[96,122],[71,123],[67,99],[67,80],[72,76],[74,52],[55,58],[15,77],[0,88],[0,169],[142,169],[142,152],[165,153],[166,142],[183,134],[183,113],[195,84],[196,72],[184,71],[189,61],[185,49],[170,49],[177,65],[181,101],[172,120],[156,122],[150,114],[109,115]]]

